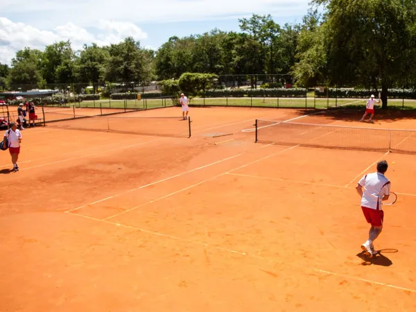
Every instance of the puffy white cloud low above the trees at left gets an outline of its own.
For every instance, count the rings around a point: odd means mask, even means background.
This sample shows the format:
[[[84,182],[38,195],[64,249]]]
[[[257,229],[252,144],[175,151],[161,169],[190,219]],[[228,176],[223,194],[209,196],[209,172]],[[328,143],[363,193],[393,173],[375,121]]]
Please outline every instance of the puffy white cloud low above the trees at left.
[[[96,42],[103,46],[121,42],[125,37],[132,36],[136,40],[147,37],[139,27],[130,22],[100,20],[96,27],[96,35],[85,28],[68,22],[56,26],[53,31],[42,31],[23,23],[15,23],[0,17],[0,62],[10,64],[15,52],[26,46],[31,49],[43,50],[45,46],[60,40],[70,40],[73,49],[81,49],[83,44]]]

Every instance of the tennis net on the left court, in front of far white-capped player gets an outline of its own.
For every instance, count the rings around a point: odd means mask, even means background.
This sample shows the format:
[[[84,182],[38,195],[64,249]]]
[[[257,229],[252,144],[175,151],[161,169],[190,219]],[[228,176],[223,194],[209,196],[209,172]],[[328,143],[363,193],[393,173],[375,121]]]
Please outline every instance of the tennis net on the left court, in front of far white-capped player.
[[[56,114],[56,113],[50,113]],[[89,130],[103,132],[121,132],[137,135],[155,135],[160,137],[191,137],[191,119],[181,116],[125,116],[125,114],[107,116],[76,116],[58,114],[49,121],[49,128],[69,130]],[[67,117],[67,118],[65,118]]]

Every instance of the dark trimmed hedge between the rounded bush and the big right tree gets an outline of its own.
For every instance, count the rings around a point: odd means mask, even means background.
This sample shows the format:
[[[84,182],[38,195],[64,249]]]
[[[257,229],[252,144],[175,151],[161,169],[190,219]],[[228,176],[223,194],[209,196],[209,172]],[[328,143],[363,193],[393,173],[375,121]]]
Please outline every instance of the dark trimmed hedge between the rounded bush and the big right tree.
[[[306,97],[306,89],[231,89],[231,90],[207,90],[206,98],[223,98],[229,97],[290,97],[290,98],[304,98]]]

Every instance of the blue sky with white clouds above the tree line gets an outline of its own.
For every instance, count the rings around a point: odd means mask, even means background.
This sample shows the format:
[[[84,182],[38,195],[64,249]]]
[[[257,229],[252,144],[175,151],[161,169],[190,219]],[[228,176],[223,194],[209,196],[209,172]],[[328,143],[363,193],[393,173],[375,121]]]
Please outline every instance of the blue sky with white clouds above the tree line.
[[[219,28],[239,31],[239,18],[272,15],[279,24],[302,21],[309,0],[1,0],[0,62],[25,46],[43,50],[59,40],[117,43],[132,36],[157,49],[169,37]]]

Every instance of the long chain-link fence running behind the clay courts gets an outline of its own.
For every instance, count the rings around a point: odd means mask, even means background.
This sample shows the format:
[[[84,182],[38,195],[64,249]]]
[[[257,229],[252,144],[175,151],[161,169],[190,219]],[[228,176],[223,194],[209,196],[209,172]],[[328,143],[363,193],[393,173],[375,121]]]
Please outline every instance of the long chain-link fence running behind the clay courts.
[[[207,89],[186,94],[190,105],[241,107],[293,107],[324,109],[330,107],[363,107],[366,99],[377,91],[371,89],[293,85],[290,75],[227,75],[218,76]],[[53,90],[51,96],[17,98],[15,93],[31,90]],[[177,105],[179,94],[169,94],[156,82],[73,83],[49,85],[0,85],[0,98],[8,105],[33,101],[35,105],[57,107],[89,107],[96,109],[137,109]],[[1,103],[0,103],[1,104]],[[380,103],[381,105],[381,103]],[[416,109],[416,89],[389,89],[388,106]]]

